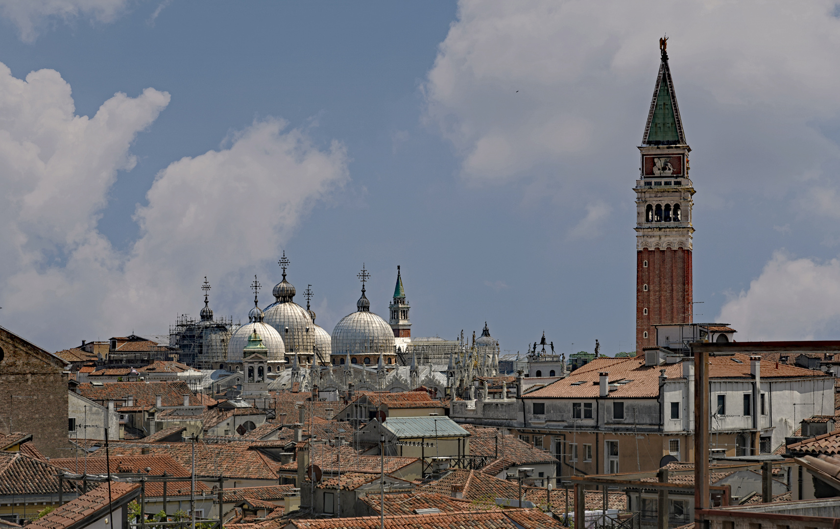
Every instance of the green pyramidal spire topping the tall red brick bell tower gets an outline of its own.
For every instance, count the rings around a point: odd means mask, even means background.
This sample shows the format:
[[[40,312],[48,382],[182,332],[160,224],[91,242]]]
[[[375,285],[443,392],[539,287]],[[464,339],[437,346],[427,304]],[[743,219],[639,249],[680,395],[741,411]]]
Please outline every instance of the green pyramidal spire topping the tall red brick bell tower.
[[[680,107],[674,92],[674,81],[668,66],[668,54],[661,48],[662,62],[659,64],[659,76],[656,76],[654,99],[650,103],[648,123],[644,128],[644,145],[685,145],[680,119]]]

